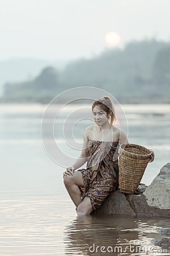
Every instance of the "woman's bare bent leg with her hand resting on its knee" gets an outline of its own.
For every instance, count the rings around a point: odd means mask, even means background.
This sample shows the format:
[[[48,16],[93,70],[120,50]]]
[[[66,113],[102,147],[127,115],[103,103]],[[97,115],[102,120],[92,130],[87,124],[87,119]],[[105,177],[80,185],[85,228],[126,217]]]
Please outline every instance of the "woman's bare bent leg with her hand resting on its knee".
[[[78,205],[82,202],[79,187],[84,186],[81,172],[75,171],[73,175],[65,176],[63,183],[65,184],[73,203],[76,207],[78,207]]]

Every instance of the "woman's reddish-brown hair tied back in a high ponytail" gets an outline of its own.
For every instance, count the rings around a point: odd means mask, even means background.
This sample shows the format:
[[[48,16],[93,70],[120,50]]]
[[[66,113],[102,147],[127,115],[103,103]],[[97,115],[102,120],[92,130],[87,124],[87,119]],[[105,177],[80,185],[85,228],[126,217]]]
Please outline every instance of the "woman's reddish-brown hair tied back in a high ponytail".
[[[110,97],[104,96],[102,98],[99,98],[98,100],[95,100],[92,104],[92,110],[95,108],[95,106],[100,105],[101,108],[107,112],[107,115],[109,112],[111,112],[111,125],[113,124],[114,120],[116,119],[116,115],[114,113],[114,106],[113,102]]]

